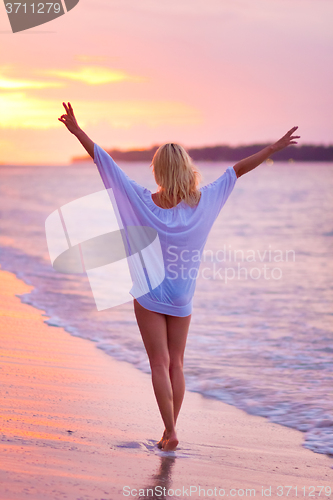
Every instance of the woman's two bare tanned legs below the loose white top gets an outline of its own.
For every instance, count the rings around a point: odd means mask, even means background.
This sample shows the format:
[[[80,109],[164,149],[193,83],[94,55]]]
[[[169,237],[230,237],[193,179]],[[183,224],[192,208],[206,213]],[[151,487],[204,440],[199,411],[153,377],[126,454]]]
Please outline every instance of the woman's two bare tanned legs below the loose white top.
[[[148,311],[134,300],[134,311],[152,371],[153,388],[165,425],[159,443],[164,450],[178,444],[175,430],[184,397],[183,358],[191,316],[179,318]]]

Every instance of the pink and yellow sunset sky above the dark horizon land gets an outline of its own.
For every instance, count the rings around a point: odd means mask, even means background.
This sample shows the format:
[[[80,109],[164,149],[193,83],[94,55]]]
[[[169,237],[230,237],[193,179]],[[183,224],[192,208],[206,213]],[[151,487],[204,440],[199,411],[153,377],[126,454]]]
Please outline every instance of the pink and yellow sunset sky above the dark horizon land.
[[[331,0],[81,0],[13,34],[0,5],[0,163],[105,148],[333,143]]]

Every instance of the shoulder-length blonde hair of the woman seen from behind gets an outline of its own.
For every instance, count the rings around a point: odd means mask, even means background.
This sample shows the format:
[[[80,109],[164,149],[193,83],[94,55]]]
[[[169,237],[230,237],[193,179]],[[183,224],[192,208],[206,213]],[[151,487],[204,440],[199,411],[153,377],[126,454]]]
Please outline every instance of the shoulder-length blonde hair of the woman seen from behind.
[[[182,146],[173,143],[160,146],[151,166],[162,208],[175,207],[182,200],[191,207],[199,203],[201,175]]]

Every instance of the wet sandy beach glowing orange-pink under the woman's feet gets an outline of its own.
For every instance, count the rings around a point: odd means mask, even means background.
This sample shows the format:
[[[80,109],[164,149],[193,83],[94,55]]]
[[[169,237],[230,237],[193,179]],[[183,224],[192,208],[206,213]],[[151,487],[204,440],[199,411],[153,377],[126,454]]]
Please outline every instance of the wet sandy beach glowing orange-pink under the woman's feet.
[[[159,451],[150,377],[46,325],[30,290],[0,271],[1,500],[333,498],[333,460],[301,432],[199,394]]]

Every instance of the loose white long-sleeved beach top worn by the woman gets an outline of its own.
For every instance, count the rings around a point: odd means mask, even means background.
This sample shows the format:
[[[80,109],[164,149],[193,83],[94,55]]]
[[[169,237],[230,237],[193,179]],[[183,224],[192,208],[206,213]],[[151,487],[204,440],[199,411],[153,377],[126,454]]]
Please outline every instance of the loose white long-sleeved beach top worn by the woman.
[[[149,293],[137,297],[137,301],[150,311],[188,316],[192,312],[201,255],[211,227],[236,183],[235,170],[228,167],[216,181],[203,186],[195,207],[181,201],[165,209],[153,202],[149,189],[130,179],[97,144],[94,163],[106,189],[113,190],[124,228],[148,226],[159,236],[165,278],[156,288],[149,287]]]

